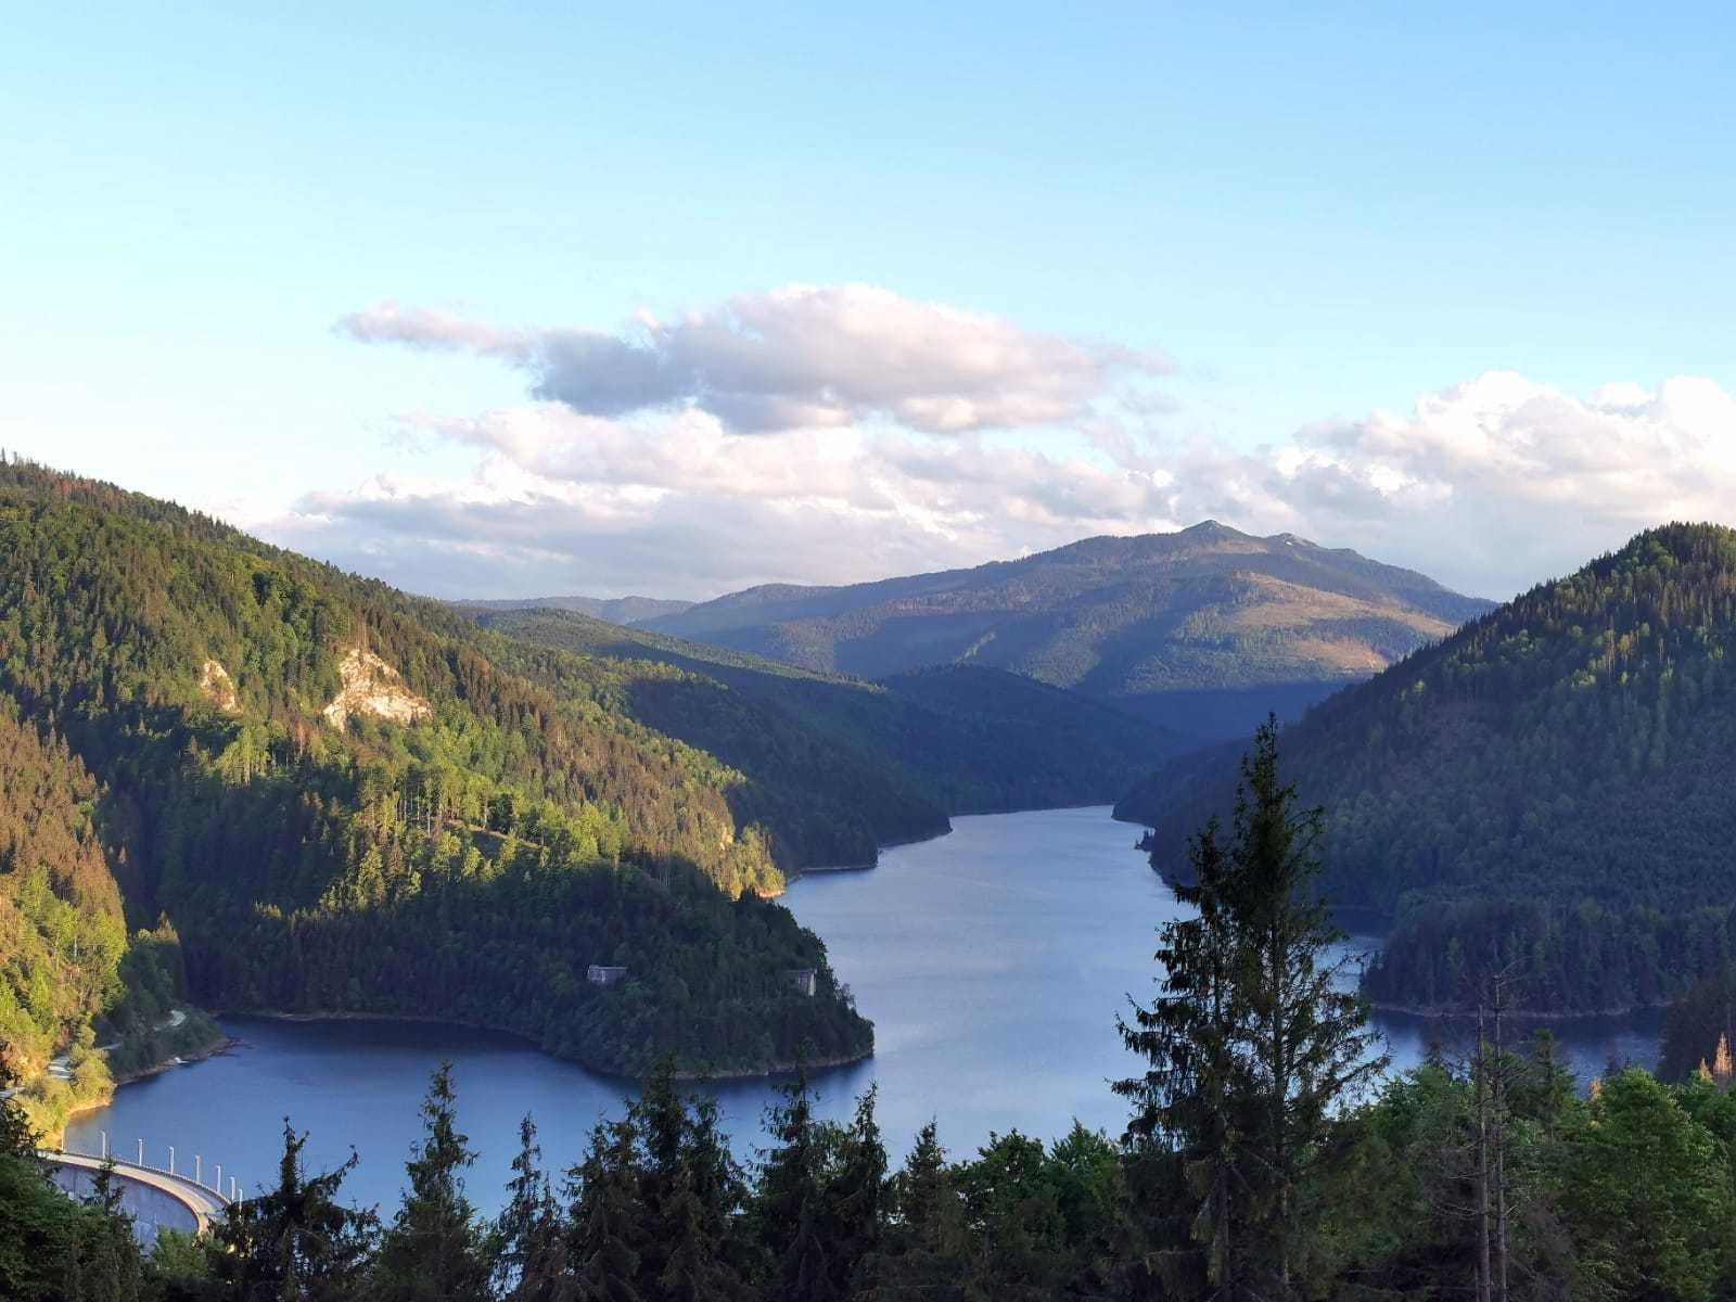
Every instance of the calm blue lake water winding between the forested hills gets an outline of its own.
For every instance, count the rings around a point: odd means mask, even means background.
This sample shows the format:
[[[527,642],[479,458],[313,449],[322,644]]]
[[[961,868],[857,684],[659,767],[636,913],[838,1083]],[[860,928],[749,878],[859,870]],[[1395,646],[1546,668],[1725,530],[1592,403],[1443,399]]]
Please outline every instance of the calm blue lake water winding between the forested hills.
[[[990,1132],[1054,1137],[1075,1116],[1120,1132],[1125,1108],[1108,1082],[1137,1062],[1120,1045],[1115,1014],[1128,993],[1149,1000],[1154,932],[1179,911],[1134,849],[1137,828],[1111,821],[1108,807],[957,818],[953,826],[950,837],[887,851],[878,868],[814,873],[785,896],[875,1021],[875,1057],[816,1080],[821,1111],[845,1116],[877,1082],[896,1156],[930,1116],[955,1154]],[[1378,1024],[1397,1068],[1441,1036],[1411,1017]],[[224,1026],[240,1049],[127,1085],[109,1108],[73,1123],[68,1146],[95,1153],[108,1132],[120,1156],[144,1139],[161,1163],[174,1144],[177,1168],[191,1168],[196,1153],[207,1179],[220,1161],[226,1182],[233,1174],[253,1187],[274,1175],[288,1115],[311,1132],[316,1167],[344,1160],[354,1144],[361,1165],[349,1196],[389,1207],[420,1134],[417,1102],[444,1057],[481,1154],[470,1193],[493,1208],[524,1113],[536,1118],[547,1163],[562,1168],[597,1116],[620,1111],[632,1092],[479,1031],[245,1017]],[[1611,1057],[1649,1064],[1656,1055],[1656,1016],[1554,1029],[1581,1075]],[[764,1080],[715,1088],[743,1156],[774,1088]]]

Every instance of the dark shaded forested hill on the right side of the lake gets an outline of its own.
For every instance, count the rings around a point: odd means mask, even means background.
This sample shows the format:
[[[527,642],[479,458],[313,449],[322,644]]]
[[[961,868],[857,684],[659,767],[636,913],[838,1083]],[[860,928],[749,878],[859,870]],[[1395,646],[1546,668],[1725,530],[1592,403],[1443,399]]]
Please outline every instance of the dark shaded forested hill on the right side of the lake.
[[[1736,533],[1670,524],[1316,707],[1286,776],[1326,807],[1326,880],[1397,911],[1377,998],[1592,1010],[1665,1000],[1731,953]],[[1233,748],[1118,816],[1153,863],[1227,809]]]

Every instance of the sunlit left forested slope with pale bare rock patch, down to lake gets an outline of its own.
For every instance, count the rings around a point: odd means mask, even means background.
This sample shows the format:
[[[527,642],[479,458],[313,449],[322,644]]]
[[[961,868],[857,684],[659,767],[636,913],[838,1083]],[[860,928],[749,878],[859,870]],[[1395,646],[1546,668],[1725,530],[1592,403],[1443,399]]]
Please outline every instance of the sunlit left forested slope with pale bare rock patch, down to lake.
[[[437,1014],[615,1069],[865,1052],[819,941],[755,894],[781,877],[731,809],[743,774],[559,653],[543,681],[510,654],[179,507],[0,467],[0,693],[64,745],[76,818],[132,922],[179,929],[196,998]]]

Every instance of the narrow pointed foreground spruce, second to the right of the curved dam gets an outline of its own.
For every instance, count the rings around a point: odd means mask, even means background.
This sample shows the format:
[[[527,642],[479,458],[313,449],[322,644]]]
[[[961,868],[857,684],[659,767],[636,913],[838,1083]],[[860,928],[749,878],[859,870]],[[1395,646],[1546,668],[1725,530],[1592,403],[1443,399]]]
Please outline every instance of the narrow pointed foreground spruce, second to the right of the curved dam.
[[[441,1062],[422,1102],[425,1135],[406,1172],[410,1193],[380,1240],[372,1297],[380,1302],[483,1302],[488,1253],[464,1168],[476,1161],[458,1132],[451,1062]]]

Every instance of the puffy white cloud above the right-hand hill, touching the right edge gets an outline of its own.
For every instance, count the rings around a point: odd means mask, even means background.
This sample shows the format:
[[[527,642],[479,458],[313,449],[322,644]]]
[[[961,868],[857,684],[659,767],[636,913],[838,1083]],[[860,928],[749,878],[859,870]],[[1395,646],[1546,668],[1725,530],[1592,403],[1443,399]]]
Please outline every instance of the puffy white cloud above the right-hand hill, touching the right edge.
[[[1736,398],[1698,377],[1576,398],[1489,372],[1264,457],[1196,458],[1179,483],[1180,514],[1210,502],[1507,597],[1653,524],[1736,521]]]

